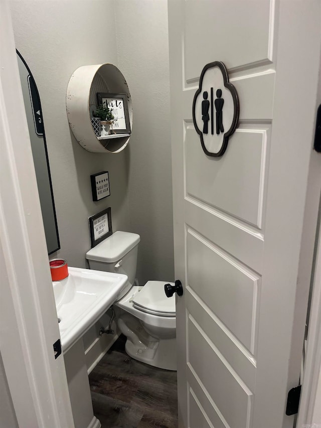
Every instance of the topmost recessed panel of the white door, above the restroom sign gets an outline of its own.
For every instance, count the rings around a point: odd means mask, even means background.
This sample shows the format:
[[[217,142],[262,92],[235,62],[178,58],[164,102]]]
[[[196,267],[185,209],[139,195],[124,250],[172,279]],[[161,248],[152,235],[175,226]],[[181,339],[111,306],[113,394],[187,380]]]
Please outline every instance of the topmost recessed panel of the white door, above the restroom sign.
[[[222,61],[227,67],[272,61],[275,29],[275,1],[261,1],[252,7],[249,14],[240,3],[231,5],[225,2],[215,4],[215,14],[208,2],[186,2],[183,9],[184,25],[182,28],[182,48],[184,58],[184,73],[187,80],[199,72],[197,64],[208,64],[212,61]],[[224,17],[224,19],[223,19]],[[202,32],[195,25],[202,23]],[[233,31],[238,29],[238,38]],[[257,37],[253,39],[253,29]],[[205,41],[220,40],[214,43],[214,49],[200,49]],[[214,55],[216,58],[211,58]]]

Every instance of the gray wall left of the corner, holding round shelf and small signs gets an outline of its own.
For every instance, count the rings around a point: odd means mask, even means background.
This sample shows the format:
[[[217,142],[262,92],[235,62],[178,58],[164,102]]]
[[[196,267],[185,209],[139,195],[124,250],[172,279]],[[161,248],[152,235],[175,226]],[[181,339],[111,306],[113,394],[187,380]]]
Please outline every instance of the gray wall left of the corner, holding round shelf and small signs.
[[[114,3],[19,0],[11,2],[11,11],[17,49],[41,97],[61,243],[53,256],[84,267],[90,215],[111,206],[113,229],[129,230],[128,151],[115,155],[85,151],[71,133],[66,114],[66,89],[76,68],[117,65]],[[93,202],[89,176],[103,170],[109,171],[111,196]]]

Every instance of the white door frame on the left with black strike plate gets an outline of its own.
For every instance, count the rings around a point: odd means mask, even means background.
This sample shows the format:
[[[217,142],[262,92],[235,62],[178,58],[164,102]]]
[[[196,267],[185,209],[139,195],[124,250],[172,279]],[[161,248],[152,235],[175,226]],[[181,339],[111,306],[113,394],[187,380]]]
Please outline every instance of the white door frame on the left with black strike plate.
[[[1,355],[19,426],[74,426],[9,4],[0,14]]]

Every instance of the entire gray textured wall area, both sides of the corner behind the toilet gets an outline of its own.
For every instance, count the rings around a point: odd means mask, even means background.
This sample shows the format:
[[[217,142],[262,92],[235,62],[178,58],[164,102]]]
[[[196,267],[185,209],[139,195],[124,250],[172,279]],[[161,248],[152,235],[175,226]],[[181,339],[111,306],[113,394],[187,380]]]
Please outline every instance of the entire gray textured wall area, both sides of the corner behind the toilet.
[[[61,243],[53,257],[84,267],[88,217],[111,206],[114,231],[141,235],[139,282],[173,280],[166,0],[13,0],[11,10],[17,49],[42,102]],[[73,71],[104,62],[120,68],[133,101],[132,136],[115,155],[85,151],[66,115]],[[111,196],[93,202],[89,176],[103,170]]]

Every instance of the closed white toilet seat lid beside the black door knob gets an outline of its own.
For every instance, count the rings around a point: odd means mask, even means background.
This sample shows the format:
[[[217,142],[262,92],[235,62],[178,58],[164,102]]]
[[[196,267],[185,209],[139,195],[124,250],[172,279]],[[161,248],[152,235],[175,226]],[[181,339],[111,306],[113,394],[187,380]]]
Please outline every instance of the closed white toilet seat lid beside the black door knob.
[[[147,281],[145,286],[133,296],[133,307],[138,311],[159,317],[175,317],[176,305],[175,296],[166,297],[164,285],[165,281]],[[170,282],[173,286],[174,283]]]

